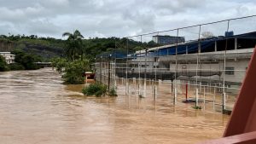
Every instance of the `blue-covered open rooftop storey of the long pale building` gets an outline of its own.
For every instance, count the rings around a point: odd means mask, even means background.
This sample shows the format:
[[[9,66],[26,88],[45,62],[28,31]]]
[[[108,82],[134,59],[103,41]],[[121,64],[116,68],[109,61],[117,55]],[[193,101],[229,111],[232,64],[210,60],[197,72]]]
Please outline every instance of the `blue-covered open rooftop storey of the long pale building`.
[[[198,49],[199,42],[192,41],[187,43],[172,43],[160,47],[154,47],[148,49],[148,56],[164,56],[164,55],[188,55],[195,53],[206,53],[213,51],[224,51],[225,42],[227,41],[227,49],[247,49],[254,48],[256,42],[256,32],[248,32],[240,35],[232,35],[228,37],[209,37],[200,39],[200,47]],[[145,50],[136,51],[136,55],[144,55]]]

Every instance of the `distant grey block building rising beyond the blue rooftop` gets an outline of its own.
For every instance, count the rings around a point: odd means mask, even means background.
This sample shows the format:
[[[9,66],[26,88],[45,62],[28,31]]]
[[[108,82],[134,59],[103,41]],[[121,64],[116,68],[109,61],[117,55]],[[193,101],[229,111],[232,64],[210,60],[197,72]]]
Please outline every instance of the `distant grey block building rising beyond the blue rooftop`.
[[[160,43],[160,44],[173,44],[173,43],[184,43],[185,38],[184,37],[175,37],[175,36],[161,36],[161,35],[155,35],[152,37],[154,43]]]

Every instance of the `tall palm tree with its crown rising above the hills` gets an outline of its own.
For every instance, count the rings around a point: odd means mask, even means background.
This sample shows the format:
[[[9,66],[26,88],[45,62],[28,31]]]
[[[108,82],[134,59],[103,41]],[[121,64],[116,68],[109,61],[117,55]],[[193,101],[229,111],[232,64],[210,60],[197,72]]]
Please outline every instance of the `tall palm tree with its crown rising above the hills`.
[[[67,55],[67,57],[75,60],[79,55],[83,55],[82,38],[84,38],[84,36],[79,30],[73,33],[64,32],[62,37],[67,37],[67,47],[65,48],[65,55]]]

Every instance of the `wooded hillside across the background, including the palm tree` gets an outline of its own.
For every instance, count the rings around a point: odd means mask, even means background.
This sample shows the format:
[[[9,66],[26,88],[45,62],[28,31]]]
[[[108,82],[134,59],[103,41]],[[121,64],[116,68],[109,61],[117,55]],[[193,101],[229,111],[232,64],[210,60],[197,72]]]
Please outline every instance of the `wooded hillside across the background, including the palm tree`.
[[[42,61],[50,61],[55,57],[68,57],[73,60],[73,57],[86,58],[93,62],[96,55],[106,52],[123,51],[126,54],[127,38],[93,37],[83,39],[82,34],[76,30],[73,33],[63,33],[67,40],[57,39],[53,37],[38,37],[36,35],[0,35],[0,51],[14,51],[16,49],[26,52],[26,54],[40,55]],[[159,44],[150,41],[141,43],[129,39],[129,52],[135,50],[151,48],[159,46]]]

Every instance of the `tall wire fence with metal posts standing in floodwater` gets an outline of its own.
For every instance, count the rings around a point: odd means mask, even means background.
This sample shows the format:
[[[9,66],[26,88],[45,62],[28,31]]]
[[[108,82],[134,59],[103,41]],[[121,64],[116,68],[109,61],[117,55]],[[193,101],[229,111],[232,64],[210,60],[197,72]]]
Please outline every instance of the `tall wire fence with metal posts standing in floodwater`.
[[[255,23],[251,15],[126,37],[115,44],[125,56],[114,50],[96,58],[96,81],[125,95],[232,110],[256,44]],[[158,44],[150,47],[152,37]]]

